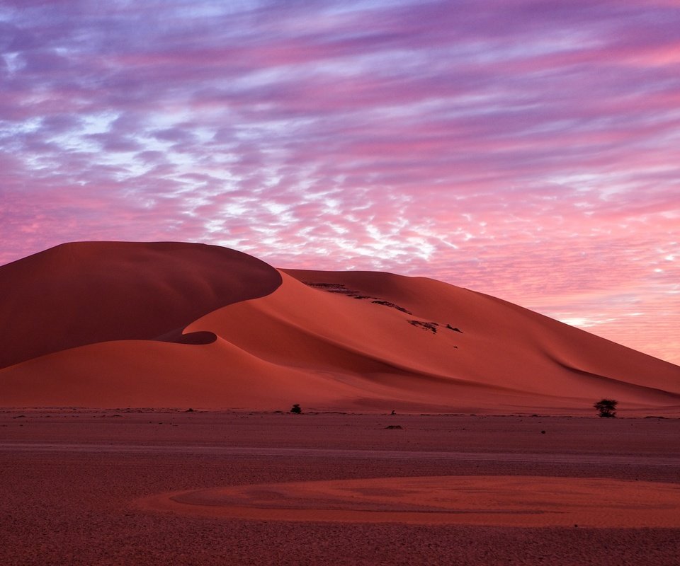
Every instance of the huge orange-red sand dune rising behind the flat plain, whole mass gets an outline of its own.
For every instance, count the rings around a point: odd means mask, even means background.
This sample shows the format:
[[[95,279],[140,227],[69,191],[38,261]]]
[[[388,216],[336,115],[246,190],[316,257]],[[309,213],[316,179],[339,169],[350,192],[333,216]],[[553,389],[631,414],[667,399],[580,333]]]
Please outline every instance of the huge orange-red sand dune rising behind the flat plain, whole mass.
[[[680,413],[679,366],[421,277],[74,243],[0,291],[0,405]]]

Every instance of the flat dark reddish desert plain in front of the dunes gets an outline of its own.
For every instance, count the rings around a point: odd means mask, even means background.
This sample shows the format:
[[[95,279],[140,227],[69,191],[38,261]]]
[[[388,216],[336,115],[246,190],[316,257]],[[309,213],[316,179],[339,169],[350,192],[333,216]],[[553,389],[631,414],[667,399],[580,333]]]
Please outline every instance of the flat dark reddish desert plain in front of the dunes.
[[[7,409],[0,432],[4,565],[680,563],[673,418]]]

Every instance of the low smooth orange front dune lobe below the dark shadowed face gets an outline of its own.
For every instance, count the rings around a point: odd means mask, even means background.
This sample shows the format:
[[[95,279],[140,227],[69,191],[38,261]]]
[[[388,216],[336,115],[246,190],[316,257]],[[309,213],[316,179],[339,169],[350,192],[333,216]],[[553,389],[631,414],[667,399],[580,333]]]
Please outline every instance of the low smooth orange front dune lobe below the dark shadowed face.
[[[295,402],[342,405],[356,394],[340,381],[271,364],[222,338],[207,345],[101,342],[1,370],[0,386],[3,402],[14,407],[288,410]]]

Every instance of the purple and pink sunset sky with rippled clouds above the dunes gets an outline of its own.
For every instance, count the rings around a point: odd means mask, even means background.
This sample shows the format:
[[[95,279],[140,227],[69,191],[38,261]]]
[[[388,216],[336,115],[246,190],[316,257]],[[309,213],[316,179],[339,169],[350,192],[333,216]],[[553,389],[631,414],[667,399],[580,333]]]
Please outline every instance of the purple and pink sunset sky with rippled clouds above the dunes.
[[[191,241],[680,364],[679,0],[3,0],[0,265]]]

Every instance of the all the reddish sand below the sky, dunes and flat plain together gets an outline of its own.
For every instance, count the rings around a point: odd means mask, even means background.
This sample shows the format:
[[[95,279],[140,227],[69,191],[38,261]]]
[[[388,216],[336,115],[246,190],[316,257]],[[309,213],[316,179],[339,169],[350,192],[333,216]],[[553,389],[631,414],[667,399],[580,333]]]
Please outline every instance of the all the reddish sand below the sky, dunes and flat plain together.
[[[492,296],[70,243],[0,320],[5,565],[679,563],[680,367]]]

